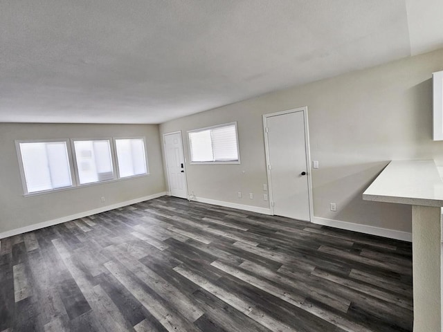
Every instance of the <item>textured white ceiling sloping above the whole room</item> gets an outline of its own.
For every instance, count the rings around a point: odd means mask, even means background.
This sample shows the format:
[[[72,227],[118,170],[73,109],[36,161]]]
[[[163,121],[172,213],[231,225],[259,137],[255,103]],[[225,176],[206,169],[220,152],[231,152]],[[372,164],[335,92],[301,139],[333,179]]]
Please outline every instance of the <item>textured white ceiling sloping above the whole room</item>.
[[[0,122],[165,122],[442,48],[442,17],[442,0],[0,0]]]

